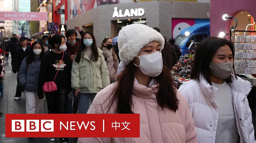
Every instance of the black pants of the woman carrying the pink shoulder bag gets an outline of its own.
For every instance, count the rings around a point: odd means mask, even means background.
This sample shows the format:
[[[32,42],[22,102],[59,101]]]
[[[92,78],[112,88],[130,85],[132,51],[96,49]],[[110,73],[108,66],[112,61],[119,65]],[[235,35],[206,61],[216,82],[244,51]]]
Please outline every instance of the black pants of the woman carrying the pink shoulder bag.
[[[45,93],[49,114],[66,114],[68,107],[68,91],[59,89]]]

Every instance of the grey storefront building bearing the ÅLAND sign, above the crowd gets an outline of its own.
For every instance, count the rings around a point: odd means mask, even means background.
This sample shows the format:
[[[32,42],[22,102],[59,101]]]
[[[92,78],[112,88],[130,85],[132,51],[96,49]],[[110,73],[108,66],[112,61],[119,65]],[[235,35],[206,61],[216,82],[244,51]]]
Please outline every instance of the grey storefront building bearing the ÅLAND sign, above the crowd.
[[[72,11],[71,11],[72,12]],[[97,45],[105,36],[112,38],[119,30],[132,23],[143,23],[159,27],[162,35],[172,37],[172,18],[208,18],[209,3],[180,1],[148,1],[100,5],[66,22],[71,29],[79,25],[83,30],[94,33]]]

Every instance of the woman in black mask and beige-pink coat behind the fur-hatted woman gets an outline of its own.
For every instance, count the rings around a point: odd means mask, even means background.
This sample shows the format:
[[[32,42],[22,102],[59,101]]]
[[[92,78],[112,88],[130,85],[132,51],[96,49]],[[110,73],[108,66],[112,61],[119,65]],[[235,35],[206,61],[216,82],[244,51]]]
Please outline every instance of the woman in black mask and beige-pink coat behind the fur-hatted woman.
[[[105,57],[105,61],[108,67],[108,72],[110,74],[110,83],[116,82],[115,77],[118,68],[118,58],[113,48],[113,40],[111,37],[105,37],[105,39],[101,43],[101,50],[103,51],[103,55]]]

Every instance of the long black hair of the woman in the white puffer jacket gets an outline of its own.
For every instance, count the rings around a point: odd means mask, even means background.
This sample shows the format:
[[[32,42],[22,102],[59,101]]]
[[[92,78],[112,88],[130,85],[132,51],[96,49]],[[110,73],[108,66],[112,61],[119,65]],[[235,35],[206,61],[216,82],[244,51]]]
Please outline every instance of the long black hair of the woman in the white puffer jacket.
[[[200,82],[201,75],[207,80],[207,82],[212,85],[210,81],[210,69],[209,65],[212,61],[212,57],[218,50],[218,48],[228,45],[233,54],[233,60],[235,56],[235,48],[232,41],[226,40],[224,38],[218,37],[208,37],[202,40],[196,47],[196,53],[194,57],[194,62],[191,69],[191,79],[196,79]],[[233,64],[234,74],[231,74],[228,79],[225,79],[227,82],[232,83],[235,75],[235,67]]]

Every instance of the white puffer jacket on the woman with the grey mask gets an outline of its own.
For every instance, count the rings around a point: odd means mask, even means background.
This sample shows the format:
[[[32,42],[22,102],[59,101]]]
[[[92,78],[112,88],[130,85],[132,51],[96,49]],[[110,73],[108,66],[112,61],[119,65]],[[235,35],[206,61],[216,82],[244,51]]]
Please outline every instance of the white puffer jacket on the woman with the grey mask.
[[[240,143],[256,143],[251,109],[247,100],[252,88],[251,83],[238,77],[230,83],[230,87]],[[214,101],[217,90],[218,88],[211,86],[202,76],[200,82],[191,80],[179,88],[190,107],[198,143],[215,143],[219,117],[218,106]]]

